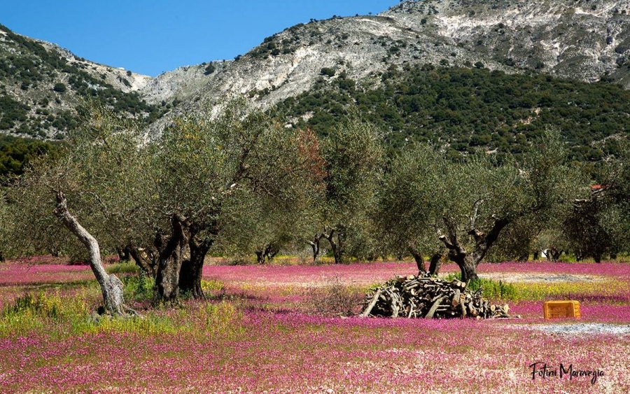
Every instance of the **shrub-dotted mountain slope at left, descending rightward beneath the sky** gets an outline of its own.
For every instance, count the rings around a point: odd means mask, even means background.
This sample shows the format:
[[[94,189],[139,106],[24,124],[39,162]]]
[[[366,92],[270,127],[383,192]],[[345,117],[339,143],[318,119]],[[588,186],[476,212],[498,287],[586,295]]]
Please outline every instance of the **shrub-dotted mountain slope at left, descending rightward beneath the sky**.
[[[0,25],[2,134],[62,138],[76,126],[76,107],[87,97],[147,120],[158,118],[160,108],[146,104],[138,93],[151,79],[89,62]]]

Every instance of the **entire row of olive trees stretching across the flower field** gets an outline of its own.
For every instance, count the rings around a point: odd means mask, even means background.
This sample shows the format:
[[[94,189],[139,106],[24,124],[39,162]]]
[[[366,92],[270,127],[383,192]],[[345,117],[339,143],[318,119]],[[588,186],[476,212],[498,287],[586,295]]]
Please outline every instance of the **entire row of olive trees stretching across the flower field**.
[[[552,242],[596,261],[629,249],[624,139],[594,189],[554,130],[498,162],[414,143],[386,155],[384,135],[352,111],[326,136],[239,100],[159,135],[97,104],[83,115],[54,160],[0,190],[0,257],[84,258],[110,314],[134,313],[102,264],[116,251],[154,279],[161,304],[204,297],[209,253],[264,263],[309,244],[316,260],[330,246],[335,263],[411,255],[433,275],[446,256],[470,281],[486,259],[524,260]]]

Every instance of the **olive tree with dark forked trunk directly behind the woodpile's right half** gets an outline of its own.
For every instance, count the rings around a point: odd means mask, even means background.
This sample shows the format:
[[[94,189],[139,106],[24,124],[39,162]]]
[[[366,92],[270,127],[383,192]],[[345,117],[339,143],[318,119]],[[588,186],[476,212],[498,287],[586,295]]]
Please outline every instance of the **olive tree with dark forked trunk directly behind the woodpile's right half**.
[[[477,265],[506,227],[531,216],[556,216],[580,187],[556,131],[548,131],[519,160],[496,165],[475,157],[450,167],[444,174],[449,197],[442,203],[439,239],[463,281],[477,279]]]

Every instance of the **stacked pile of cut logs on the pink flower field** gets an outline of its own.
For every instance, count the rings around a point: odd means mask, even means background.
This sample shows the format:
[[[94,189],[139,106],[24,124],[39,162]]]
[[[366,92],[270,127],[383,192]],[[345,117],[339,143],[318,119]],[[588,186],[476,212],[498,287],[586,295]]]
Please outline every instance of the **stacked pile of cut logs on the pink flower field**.
[[[465,282],[431,276],[397,276],[383,286],[370,290],[360,316],[391,318],[519,318],[510,316],[510,307],[490,304],[481,296],[482,288],[472,292]]]

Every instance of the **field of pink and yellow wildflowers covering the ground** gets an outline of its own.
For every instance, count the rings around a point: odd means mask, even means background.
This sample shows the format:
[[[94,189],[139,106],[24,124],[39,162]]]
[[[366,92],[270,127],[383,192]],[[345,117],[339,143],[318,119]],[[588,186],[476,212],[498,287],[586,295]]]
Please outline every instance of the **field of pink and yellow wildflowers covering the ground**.
[[[456,272],[446,264],[442,275]],[[208,300],[90,320],[89,267],[0,265],[1,393],[630,393],[630,264],[505,262],[479,275],[511,283],[521,318],[335,316],[313,308],[408,262],[207,265]],[[133,273],[123,276],[126,289]],[[131,292],[132,290],[130,290]],[[582,318],[542,318],[544,300]]]

